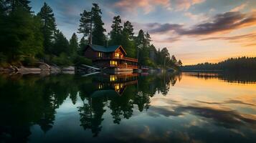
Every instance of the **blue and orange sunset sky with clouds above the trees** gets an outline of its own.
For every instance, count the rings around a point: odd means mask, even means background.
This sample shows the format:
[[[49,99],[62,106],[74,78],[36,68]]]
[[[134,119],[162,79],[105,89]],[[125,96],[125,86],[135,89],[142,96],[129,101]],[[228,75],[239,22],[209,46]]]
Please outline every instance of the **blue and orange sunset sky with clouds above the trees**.
[[[256,56],[255,0],[32,0],[35,14],[44,2],[67,39],[77,33],[82,11],[97,3],[106,34],[113,16],[120,15],[136,34],[148,31],[157,49],[166,47],[184,65]]]

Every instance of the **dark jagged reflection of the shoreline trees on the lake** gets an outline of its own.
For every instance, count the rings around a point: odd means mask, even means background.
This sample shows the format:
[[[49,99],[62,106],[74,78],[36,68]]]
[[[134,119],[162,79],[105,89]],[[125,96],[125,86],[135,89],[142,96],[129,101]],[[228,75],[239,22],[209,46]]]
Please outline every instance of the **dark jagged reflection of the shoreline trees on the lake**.
[[[0,140],[10,138],[27,142],[31,134],[29,128],[34,124],[38,124],[46,133],[54,125],[56,109],[67,97],[76,104],[77,95],[83,102],[82,107],[78,107],[81,126],[91,129],[96,137],[102,129],[105,103],[109,103],[113,122],[120,124],[122,119],[132,117],[134,105],[138,106],[140,112],[148,109],[150,97],[156,92],[167,94],[170,83],[174,85],[177,79],[171,74],[140,77],[138,84],[126,86],[121,95],[114,94],[115,90],[110,89],[113,86],[108,85],[105,86],[108,90],[104,96],[90,97],[93,92],[100,90],[99,82],[93,82],[93,77],[0,77]]]

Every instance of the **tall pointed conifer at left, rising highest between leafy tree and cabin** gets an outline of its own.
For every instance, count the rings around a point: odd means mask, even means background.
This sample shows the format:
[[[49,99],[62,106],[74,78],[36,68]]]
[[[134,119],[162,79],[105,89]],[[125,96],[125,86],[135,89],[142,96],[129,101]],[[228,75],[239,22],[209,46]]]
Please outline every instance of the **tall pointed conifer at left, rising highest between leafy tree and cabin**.
[[[56,31],[56,23],[52,8],[44,3],[41,11],[37,14],[42,19],[42,33],[44,34],[44,51],[46,54],[52,53],[52,40]]]

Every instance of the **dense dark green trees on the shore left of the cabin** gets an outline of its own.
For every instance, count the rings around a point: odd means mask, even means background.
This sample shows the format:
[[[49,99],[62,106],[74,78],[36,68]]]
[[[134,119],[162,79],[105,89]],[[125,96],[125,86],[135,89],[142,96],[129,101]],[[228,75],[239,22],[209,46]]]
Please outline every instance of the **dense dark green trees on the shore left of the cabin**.
[[[70,40],[57,29],[46,3],[34,14],[28,0],[0,1],[0,66],[35,66],[39,61],[60,66],[91,64],[80,54],[74,33]]]

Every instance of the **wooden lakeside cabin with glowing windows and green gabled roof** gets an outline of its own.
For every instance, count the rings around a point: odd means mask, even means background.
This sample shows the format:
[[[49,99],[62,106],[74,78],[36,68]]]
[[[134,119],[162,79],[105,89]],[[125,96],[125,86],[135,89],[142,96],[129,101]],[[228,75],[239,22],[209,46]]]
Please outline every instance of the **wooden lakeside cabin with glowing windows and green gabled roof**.
[[[87,45],[85,57],[93,60],[93,64],[100,68],[115,68],[118,71],[138,69],[137,59],[126,57],[122,46]]]

